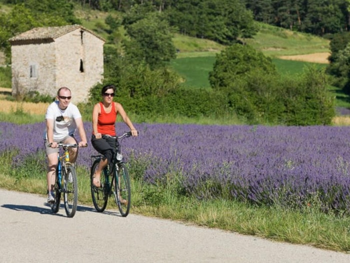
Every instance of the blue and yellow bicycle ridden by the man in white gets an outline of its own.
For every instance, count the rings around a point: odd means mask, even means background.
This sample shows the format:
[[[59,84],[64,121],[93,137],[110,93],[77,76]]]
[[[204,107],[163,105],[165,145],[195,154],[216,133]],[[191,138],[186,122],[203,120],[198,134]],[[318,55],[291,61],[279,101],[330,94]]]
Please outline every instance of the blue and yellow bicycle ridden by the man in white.
[[[47,146],[50,146],[48,144]],[[54,202],[50,204],[51,210],[57,213],[60,205],[61,193],[64,198],[64,209],[67,217],[73,217],[76,211],[78,201],[78,187],[76,172],[73,164],[69,160],[68,148],[77,148],[77,144],[58,143],[64,151],[63,154],[58,152],[58,164],[56,168],[56,182],[54,184]]]

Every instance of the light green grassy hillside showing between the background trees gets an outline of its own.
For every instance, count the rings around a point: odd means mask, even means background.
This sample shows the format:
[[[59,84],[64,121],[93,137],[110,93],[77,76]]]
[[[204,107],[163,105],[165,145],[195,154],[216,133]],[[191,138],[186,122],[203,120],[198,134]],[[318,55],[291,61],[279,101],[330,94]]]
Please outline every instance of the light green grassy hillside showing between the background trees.
[[[103,28],[107,28],[104,24],[107,13],[79,8],[75,11],[75,15],[81,19],[84,27],[94,31],[103,38],[107,38],[106,32],[103,31]],[[118,14],[113,13],[112,16],[117,17]],[[323,58],[323,62],[324,58],[328,56],[329,41],[326,39],[262,23],[257,23],[257,26],[259,27],[259,32],[253,39],[241,39],[241,41],[262,51],[266,56],[280,57],[317,53],[318,57]],[[118,35],[122,38],[123,31],[120,30]],[[224,49],[224,46],[213,41],[191,38],[180,34],[174,34],[173,43],[176,49],[179,50],[178,58],[214,56],[217,52]],[[301,57],[301,59],[309,60],[310,58]]]

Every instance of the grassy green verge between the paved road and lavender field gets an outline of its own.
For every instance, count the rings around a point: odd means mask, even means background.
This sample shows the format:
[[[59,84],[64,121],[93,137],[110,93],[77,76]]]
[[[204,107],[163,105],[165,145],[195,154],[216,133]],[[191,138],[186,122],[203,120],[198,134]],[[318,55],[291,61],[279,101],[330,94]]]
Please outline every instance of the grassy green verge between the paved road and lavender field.
[[[9,154],[10,155],[10,154]],[[8,175],[9,159],[0,160],[0,187],[36,194],[46,193],[45,172],[33,177]],[[130,174],[137,175],[137,166]],[[13,173],[12,173],[13,174]],[[79,203],[92,206],[89,173],[77,166]],[[350,217],[319,212],[318,207],[306,206],[296,211],[278,206],[253,206],[225,199],[198,200],[176,194],[176,175],[169,176],[163,186],[154,186],[131,178],[132,206],[130,213],[190,222],[195,225],[257,235],[290,243],[347,252],[350,250]],[[175,183],[174,183],[175,182]],[[106,210],[117,209],[110,199]]]

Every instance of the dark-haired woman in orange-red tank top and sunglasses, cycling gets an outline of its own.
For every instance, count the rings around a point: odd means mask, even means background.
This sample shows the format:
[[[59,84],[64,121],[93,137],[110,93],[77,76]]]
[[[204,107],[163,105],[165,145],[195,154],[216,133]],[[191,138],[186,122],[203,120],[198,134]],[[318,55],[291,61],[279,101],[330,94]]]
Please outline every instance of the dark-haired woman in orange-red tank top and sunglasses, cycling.
[[[132,136],[137,136],[133,127],[120,103],[113,102],[115,87],[106,85],[102,88],[102,102],[97,103],[92,111],[92,137],[91,144],[103,157],[98,168],[92,177],[92,184],[101,187],[100,177],[103,168],[110,163],[116,151],[115,139],[110,137],[102,138],[102,135],[116,136],[115,120],[119,114],[124,123],[130,128]]]

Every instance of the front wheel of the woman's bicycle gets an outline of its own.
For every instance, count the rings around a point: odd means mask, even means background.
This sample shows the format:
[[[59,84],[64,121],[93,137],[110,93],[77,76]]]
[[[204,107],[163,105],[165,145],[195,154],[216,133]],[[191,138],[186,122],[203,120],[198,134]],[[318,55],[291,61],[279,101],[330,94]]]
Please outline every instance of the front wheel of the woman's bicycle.
[[[130,178],[124,163],[118,164],[117,179],[114,182],[114,198],[121,216],[127,216],[130,210]]]

